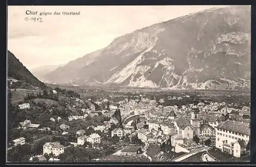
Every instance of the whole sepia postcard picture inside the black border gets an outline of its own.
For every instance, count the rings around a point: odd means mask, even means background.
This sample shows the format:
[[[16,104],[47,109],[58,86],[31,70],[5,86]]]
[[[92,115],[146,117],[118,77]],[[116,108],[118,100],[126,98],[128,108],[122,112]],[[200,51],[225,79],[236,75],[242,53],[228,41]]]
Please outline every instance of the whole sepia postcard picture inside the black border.
[[[250,162],[251,6],[8,6],[7,163]]]

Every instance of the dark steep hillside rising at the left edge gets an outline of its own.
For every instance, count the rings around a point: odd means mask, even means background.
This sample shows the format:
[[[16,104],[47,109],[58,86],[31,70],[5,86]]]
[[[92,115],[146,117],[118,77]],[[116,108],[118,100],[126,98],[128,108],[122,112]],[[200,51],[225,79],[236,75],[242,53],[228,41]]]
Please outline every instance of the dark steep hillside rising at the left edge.
[[[12,78],[12,81],[15,80],[13,82],[17,82],[18,80],[25,85],[29,84],[40,88],[46,88],[46,85],[34,77],[10,51],[8,51],[8,78]]]

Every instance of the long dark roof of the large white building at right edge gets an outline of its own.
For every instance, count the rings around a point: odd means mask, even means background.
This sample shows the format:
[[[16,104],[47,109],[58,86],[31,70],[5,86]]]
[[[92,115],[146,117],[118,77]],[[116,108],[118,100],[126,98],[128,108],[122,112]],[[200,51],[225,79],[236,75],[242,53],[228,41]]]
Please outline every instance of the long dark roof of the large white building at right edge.
[[[245,134],[245,135],[250,135],[249,124],[238,122],[238,121],[230,121],[229,120],[226,122],[221,122],[217,126],[217,128],[225,129],[225,130],[229,130],[229,131],[233,131],[233,132],[237,132],[237,133],[241,133],[241,134]]]

